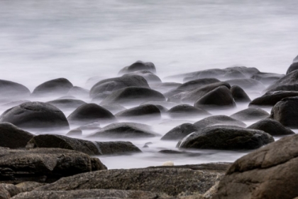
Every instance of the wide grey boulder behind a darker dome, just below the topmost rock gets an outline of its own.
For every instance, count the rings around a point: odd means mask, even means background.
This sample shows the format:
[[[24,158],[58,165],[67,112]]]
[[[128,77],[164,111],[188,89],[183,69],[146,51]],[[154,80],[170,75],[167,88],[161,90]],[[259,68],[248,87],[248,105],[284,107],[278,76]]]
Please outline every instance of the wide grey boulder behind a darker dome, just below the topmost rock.
[[[110,95],[111,92],[125,87],[146,87],[150,88],[147,80],[140,75],[128,75],[122,77],[114,77],[97,82],[90,90],[90,97],[95,98],[96,95]]]

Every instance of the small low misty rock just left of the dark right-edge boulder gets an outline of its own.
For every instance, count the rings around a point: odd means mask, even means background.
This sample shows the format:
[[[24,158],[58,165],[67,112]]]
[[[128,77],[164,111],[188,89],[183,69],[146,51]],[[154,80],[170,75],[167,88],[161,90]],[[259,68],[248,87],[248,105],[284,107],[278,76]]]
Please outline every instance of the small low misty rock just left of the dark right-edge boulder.
[[[249,121],[265,119],[266,117],[269,117],[269,115],[270,114],[263,109],[250,107],[248,109],[241,110],[240,112],[236,112],[232,114],[230,117],[241,121]]]

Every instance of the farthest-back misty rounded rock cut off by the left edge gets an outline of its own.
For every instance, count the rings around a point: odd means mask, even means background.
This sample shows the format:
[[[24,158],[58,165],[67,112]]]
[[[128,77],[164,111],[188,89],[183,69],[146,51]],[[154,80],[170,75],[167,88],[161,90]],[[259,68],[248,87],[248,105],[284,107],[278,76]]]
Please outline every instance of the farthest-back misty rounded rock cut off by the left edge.
[[[24,85],[8,80],[0,80],[0,95],[1,98],[11,97],[28,97],[31,94],[30,90]]]

